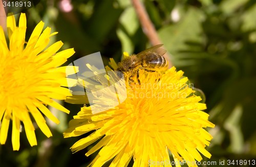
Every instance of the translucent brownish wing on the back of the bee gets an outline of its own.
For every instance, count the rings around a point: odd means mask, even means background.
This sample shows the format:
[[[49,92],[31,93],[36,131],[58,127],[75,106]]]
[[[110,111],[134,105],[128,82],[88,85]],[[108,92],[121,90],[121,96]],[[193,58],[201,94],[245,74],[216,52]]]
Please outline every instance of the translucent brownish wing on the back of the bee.
[[[143,60],[144,62],[155,60],[155,59],[163,56],[166,53],[166,51],[164,49],[160,48],[162,45],[163,44],[158,44],[153,47],[150,47],[150,48],[146,49],[145,51],[138,53],[136,55],[136,57],[139,60]],[[151,53],[156,53],[156,54],[154,54],[155,56],[148,56]]]

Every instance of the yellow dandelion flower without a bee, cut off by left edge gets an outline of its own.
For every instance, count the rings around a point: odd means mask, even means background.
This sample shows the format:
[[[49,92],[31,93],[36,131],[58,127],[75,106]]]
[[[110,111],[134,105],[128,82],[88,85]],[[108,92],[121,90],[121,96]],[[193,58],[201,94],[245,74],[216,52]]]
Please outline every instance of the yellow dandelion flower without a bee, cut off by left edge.
[[[24,13],[19,17],[18,27],[16,27],[13,15],[7,17],[9,49],[3,28],[0,26],[0,121],[2,120],[0,143],[5,144],[9,123],[12,120],[13,150],[19,150],[20,121],[24,124],[30,145],[37,145],[35,128],[29,113],[34,117],[41,131],[47,137],[52,136],[40,112],[58,124],[58,119],[45,105],[69,113],[69,110],[53,101],[52,98],[65,100],[72,94],[68,88],[61,86],[68,86],[68,82],[76,83],[66,78],[66,71],[67,75],[70,75],[72,70],[58,67],[75,53],[74,50],[68,49],[55,54],[63,45],[61,41],[58,41],[42,52],[50,41],[49,37],[57,33],[50,34],[51,28],[49,27],[42,32],[44,22],[40,21],[29,41],[26,42],[26,22]]]

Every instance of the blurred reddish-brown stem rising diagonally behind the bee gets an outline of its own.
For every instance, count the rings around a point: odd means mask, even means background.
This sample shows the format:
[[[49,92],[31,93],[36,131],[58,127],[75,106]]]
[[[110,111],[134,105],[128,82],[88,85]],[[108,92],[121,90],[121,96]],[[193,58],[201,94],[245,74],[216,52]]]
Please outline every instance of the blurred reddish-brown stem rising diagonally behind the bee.
[[[150,20],[150,17],[148,16],[145,7],[140,2],[140,0],[131,0],[133,3],[133,6],[136,10],[136,13],[139,17],[142,30],[144,34],[147,36],[148,40],[150,40],[150,43],[152,45],[161,44],[161,39],[159,38],[157,31],[153,25],[153,23]],[[166,53],[164,55],[164,58],[169,62],[169,68],[173,66],[172,61],[170,61],[170,56]]]

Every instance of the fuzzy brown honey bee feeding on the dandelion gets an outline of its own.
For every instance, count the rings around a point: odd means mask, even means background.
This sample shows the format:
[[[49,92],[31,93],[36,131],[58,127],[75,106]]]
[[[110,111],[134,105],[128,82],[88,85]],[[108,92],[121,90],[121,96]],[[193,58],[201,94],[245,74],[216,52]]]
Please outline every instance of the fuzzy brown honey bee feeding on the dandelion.
[[[164,49],[160,47],[163,44],[158,44],[153,47],[140,52],[137,55],[129,56],[118,63],[117,71],[121,71],[125,79],[129,79],[134,82],[136,76],[137,82],[139,81],[139,70],[145,70],[147,72],[164,73],[168,69],[168,62],[163,57],[166,53]]]

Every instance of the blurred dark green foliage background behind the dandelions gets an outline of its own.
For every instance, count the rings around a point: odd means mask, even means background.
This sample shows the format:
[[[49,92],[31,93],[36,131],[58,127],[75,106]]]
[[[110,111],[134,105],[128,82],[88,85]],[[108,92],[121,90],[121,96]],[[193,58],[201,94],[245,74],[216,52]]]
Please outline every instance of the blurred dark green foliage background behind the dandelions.
[[[143,4],[173,64],[205,93],[205,112],[216,127],[208,129],[214,137],[207,147],[212,157],[203,161],[217,161],[219,166],[219,160],[255,160],[256,1],[144,0]],[[108,65],[109,58],[119,62],[122,52],[139,53],[151,46],[129,0],[41,0],[26,15],[26,41],[42,20],[45,28],[59,32],[51,37],[51,44],[62,40],[61,50],[74,47],[76,53],[66,65],[95,52]],[[0,145],[1,167],[83,167],[92,161],[97,152],[90,157],[84,154],[93,146],[75,154],[69,150],[88,134],[62,137],[83,105],[60,103],[70,114],[51,109],[60,124],[47,120],[50,138],[37,128],[37,146],[30,147],[23,129],[20,149],[13,151],[10,127],[6,144]]]

